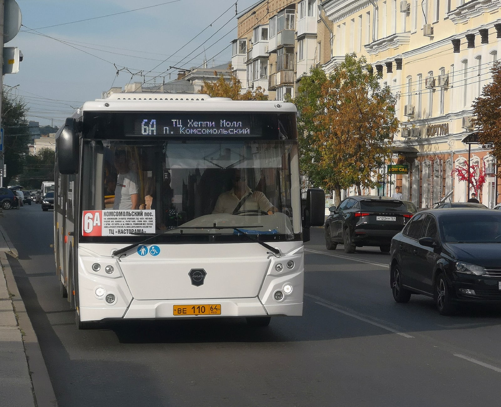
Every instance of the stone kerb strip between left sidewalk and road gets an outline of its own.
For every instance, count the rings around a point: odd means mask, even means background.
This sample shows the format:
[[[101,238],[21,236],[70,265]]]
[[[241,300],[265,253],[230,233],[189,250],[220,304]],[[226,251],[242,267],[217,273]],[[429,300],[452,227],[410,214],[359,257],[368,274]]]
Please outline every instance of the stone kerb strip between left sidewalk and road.
[[[18,258],[18,251],[10,241],[2,226],[0,226],[0,233],[3,235],[9,248],[9,252],[0,253],[0,264],[5,273],[7,287],[12,294],[12,301],[16,308],[19,328],[23,333],[23,344],[32,380],[35,403],[37,407],[57,407],[56,394],[52,387],[52,382],[42,355],[42,350],[40,349],[37,334],[33,329],[33,325],[26,311],[25,303],[21,298],[18,285],[16,284],[14,274],[7,259],[7,255]]]

